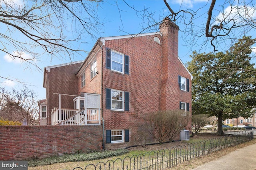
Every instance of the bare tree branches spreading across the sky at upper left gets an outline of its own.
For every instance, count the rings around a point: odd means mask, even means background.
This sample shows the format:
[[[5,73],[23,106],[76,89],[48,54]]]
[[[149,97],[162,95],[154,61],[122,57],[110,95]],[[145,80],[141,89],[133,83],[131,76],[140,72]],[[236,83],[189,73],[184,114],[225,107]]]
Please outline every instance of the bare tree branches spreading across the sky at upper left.
[[[21,60],[28,67],[33,66],[33,70],[40,70],[37,61],[44,54],[70,57],[72,61],[74,56],[86,52],[81,47],[85,43],[84,38],[96,38],[95,35],[100,33],[102,22],[97,13],[100,2],[1,0],[0,51],[12,59]]]

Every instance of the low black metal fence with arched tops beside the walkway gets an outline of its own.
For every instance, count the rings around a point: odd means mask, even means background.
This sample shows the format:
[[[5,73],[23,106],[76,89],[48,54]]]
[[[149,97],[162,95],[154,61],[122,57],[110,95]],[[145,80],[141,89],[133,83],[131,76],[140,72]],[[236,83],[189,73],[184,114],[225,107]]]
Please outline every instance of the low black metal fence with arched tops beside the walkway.
[[[188,143],[183,146],[161,149],[144,154],[126,156],[116,160],[88,164],[84,169],[73,170],[164,170],[184,161],[232,147],[253,139],[253,131],[225,132],[225,136],[205,141]]]

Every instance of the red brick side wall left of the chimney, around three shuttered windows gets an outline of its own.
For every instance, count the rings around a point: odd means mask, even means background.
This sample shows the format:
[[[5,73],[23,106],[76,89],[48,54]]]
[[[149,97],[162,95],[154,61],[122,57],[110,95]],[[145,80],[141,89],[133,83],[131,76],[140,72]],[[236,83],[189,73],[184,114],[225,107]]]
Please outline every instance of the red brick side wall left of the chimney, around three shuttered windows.
[[[157,35],[159,36],[159,35]],[[130,142],[106,144],[106,149],[137,145],[138,131],[147,133],[144,118],[159,110],[161,79],[161,46],[154,41],[155,35],[105,41],[103,47],[103,99],[106,88],[129,92],[129,111],[106,109],[103,100],[105,129],[129,129]],[[129,74],[106,69],[106,51],[112,50],[129,56]],[[140,127],[144,128],[140,128]],[[147,143],[155,142],[148,138]]]

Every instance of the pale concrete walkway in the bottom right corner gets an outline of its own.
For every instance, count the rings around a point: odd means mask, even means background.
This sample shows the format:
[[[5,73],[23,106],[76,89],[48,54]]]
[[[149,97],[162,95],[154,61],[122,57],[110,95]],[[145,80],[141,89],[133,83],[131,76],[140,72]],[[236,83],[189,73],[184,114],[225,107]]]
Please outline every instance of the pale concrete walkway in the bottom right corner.
[[[192,170],[256,170],[256,144],[230,152]]]

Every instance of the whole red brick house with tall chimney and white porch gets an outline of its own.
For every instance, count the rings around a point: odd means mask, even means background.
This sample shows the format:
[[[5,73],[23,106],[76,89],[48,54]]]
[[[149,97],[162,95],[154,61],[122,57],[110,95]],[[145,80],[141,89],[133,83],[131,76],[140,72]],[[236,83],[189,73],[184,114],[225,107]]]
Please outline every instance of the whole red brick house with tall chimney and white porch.
[[[113,149],[136,145],[147,114],[191,114],[192,75],[178,57],[178,30],[166,18],[160,32],[102,37],[82,63],[46,67],[47,124],[101,125],[104,147]]]

